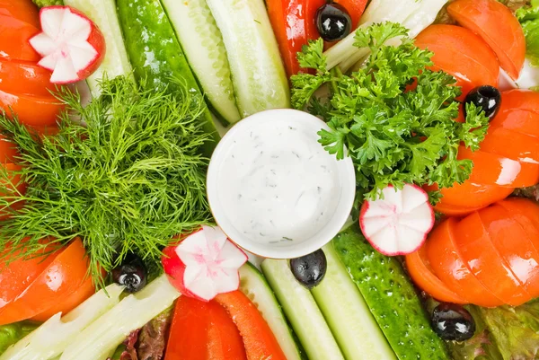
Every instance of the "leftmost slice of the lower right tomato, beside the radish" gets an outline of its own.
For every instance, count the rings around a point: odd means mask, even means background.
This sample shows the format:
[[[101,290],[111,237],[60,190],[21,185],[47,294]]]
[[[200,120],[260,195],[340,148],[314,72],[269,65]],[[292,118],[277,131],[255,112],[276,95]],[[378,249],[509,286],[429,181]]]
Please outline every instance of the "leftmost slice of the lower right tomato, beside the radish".
[[[456,220],[453,217],[437,225],[426,242],[427,257],[435,275],[468,303],[495,307],[502,302],[473,276],[455,247]]]

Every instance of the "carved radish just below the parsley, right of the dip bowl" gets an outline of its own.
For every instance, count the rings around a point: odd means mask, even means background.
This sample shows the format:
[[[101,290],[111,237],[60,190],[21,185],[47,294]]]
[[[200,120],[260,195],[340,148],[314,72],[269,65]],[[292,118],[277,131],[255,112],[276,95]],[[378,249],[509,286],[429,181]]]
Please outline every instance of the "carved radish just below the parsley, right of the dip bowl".
[[[365,201],[359,214],[361,231],[384,255],[405,255],[420,249],[434,226],[434,211],[425,190],[405,184],[382,190],[383,197]]]

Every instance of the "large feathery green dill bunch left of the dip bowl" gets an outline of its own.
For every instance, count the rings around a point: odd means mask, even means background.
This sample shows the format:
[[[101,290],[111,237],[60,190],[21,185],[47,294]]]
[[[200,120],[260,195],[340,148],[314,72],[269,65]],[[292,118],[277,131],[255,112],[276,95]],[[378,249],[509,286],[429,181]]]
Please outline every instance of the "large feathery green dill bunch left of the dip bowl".
[[[102,96],[86,107],[62,90],[57,99],[67,111],[55,136],[37,136],[0,115],[0,131],[18,146],[22,165],[0,171],[0,209],[12,213],[0,221],[0,252],[29,258],[44,249],[43,238],[61,245],[80,236],[93,280],[103,285],[102,269],[118,266],[129,251],[155,268],[174,235],[207,224],[204,102],[177,84],[183,91],[172,95],[105,79]],[[5,185],[13,174],[27,183],[25,194]],[[11,210],[21,200],[22,208]]]

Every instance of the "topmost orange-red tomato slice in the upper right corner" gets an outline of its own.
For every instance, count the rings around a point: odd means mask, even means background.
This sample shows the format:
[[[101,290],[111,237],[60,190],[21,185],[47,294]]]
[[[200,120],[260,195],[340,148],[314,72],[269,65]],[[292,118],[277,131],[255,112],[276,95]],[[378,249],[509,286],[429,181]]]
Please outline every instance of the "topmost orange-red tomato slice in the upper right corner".
[[[457,0],[447,12],[464,28],[479,34],[499,58],[500,66],[517,80],[526,57],[526,39],[517,18],[496,0]]]

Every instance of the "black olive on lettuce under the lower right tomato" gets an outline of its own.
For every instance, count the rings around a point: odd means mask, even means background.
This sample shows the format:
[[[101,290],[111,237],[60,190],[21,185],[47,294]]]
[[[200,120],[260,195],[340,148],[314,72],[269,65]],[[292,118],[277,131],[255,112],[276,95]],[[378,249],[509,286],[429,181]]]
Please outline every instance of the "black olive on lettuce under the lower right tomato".
[[[475,321],[464,307],[440,303],[432,312],[432,328],[444,340],[464,341],[473,337]]]

